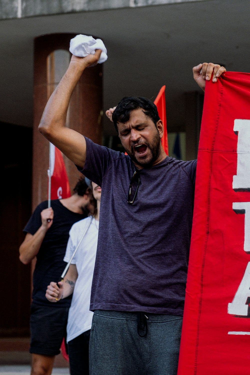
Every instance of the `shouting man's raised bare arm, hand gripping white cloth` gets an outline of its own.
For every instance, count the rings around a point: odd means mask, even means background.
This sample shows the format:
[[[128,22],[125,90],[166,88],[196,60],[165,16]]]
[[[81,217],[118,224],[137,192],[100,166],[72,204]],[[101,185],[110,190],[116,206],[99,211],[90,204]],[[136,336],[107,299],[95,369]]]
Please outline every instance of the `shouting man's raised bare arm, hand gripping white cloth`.
[[[85,138],[73,129],[66,127],[69,101],[84,69],[96,65],[101,50],[94,55],[76,57],[72,55],[69,68],[46,104],[39,124],[39,131],[73,163],[84,167],[86,158]]]

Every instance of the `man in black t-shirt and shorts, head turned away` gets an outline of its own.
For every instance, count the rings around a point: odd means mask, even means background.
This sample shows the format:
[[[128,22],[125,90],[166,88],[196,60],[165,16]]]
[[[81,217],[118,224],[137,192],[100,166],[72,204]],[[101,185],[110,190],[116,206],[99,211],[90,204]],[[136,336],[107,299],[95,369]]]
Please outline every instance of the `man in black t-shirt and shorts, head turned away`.
[[[50,208],[48,201],[36,207],[24,228],[26,236],[19,248],[22,263],[36,258],[30,317],[31,375],[51,374],[66,333],[71,297],[52,305],[45,293],[49,282],[59,280],[64,270],[63,257],[71,226],[84,219],[92,208],[92,192],[84,179],[78,181],[73,192],[69,198],[52,200]]]

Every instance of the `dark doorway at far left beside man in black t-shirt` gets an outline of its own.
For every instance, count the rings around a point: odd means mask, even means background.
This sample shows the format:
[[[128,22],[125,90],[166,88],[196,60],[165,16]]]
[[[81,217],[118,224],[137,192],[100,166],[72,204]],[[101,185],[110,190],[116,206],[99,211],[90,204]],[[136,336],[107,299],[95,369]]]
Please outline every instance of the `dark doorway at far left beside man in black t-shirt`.
[[[19,261],[22,229],[31,214],[32,129],[1,125],[1,337],[29,336],[30,266]]]

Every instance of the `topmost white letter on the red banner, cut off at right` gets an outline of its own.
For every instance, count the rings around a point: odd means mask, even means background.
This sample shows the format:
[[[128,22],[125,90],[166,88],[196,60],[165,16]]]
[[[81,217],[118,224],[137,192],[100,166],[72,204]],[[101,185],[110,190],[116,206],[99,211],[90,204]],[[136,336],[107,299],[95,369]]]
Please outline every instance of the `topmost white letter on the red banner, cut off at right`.
[[[250,120],[234,120],[238,134],[237,175],[233,176],[233,189],[250,191]]]

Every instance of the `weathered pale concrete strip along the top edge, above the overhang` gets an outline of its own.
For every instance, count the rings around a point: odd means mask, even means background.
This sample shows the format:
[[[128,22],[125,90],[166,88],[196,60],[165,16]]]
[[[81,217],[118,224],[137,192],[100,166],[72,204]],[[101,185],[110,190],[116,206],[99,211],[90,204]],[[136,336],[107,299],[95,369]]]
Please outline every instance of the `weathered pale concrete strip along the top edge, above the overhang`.
[[[193,0],[0,0],[0,20],[191,1],[193,2]]]

